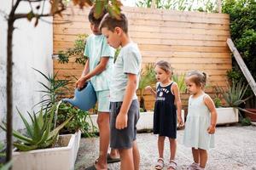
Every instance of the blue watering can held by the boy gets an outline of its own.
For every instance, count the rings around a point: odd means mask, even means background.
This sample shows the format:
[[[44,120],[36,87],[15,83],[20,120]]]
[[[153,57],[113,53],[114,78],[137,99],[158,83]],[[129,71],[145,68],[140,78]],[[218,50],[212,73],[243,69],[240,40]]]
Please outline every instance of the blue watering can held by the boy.
[[[85,88],[75,89],[73,99],[62,99],[62,101],[70,103],[82,111],[89,111],[96,105],[96,93],[92,84],[88,82]]]

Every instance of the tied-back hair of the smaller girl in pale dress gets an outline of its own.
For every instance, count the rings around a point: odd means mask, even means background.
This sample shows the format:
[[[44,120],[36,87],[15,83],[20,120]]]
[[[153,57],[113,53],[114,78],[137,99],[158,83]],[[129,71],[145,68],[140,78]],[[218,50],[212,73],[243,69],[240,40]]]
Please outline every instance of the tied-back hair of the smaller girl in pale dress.
[[[195,82],[198,87],[204,88],[207,84],[207,74],[201,71],[189,71],[186,75],[191,82]]]

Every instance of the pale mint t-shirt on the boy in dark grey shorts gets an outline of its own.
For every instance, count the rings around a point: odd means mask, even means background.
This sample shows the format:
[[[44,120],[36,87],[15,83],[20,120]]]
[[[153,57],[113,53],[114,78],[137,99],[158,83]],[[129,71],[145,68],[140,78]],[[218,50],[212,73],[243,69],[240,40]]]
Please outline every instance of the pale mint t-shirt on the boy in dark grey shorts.
[[[113,66],[113,77],[110,86],[110,101],[123,101],[127,86],[127,73],[137,75],[137,88],[141,71],[142,55],[137,44],[130,42],[120,49],[119,56]],[[132,99],[137,99],[134,93]]]

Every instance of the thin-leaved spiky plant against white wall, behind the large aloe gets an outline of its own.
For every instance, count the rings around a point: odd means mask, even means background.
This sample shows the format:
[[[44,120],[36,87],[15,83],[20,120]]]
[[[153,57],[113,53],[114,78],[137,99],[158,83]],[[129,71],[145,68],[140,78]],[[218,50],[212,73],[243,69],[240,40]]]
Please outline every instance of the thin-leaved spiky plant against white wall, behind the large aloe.
[[[35,71],[38,71],[37,69],[34,69]],[[55,105],[56,102],[58,102],[59,98],[61,98],[63,93],[63,89],[67,89],[67,84],[69,83],[69,80],[59,80],[57,79],[56,72],[54,75],[48,75],[46,76],[42,71],[38,71],[47,81],[47,83],[39,82],[44,90],[39,90],[38,92],[44,93],[42,100],[38,102],[37,105],[42,105],[44,110],[49,110],[49,108],[52,107],[52,105]]]

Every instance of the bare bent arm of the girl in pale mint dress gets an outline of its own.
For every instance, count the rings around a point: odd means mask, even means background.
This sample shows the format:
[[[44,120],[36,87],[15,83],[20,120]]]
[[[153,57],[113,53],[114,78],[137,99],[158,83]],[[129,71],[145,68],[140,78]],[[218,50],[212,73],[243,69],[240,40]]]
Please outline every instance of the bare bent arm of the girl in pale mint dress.
[[[210,96],[205,97],[204,102],[207,105],[208,110],[211,112],[211,125],[207,128],[207,131],[208,133],[213,134],[215,133],[215,127],[217,122],[217,111]]]

